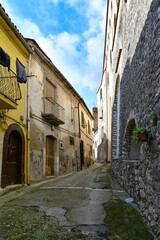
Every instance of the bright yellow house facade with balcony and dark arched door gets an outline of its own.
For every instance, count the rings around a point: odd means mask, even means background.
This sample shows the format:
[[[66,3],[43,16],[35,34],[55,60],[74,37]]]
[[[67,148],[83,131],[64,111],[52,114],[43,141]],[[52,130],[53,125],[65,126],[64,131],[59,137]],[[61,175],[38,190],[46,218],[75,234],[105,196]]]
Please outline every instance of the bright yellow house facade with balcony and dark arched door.
[[[27,73],[30,49],[0,5],[0,188],[28,182]]]

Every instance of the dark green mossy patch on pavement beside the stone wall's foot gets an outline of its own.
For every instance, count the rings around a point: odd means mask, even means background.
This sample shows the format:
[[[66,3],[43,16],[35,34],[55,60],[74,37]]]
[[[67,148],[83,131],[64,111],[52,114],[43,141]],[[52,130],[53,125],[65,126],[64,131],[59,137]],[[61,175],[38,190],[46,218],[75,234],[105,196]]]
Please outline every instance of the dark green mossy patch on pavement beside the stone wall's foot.
[[[140,214],[131,205],[112,195],[105,205],[105,224],[110,240],[153,240]]]

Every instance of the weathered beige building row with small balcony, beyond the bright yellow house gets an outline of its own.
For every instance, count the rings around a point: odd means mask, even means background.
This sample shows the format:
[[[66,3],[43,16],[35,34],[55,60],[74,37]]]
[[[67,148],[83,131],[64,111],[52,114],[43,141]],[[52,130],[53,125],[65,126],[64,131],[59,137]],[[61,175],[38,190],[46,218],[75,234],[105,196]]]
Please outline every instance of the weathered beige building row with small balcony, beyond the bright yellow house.
[[[92,160],[92,115],[84,100],[33,39],[28,88],[30,180],[80,170]],[[81,122],[83,112],[86,126]],[[91,153],[91,154],[90,154]]]

